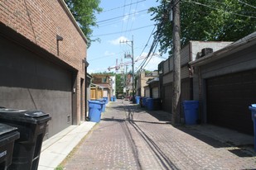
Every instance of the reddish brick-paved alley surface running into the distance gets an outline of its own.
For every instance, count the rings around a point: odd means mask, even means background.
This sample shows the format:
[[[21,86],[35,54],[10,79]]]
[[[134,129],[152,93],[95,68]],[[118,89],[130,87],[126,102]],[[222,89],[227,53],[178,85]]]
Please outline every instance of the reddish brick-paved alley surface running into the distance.
[[[254,153],[238,156],[156,117],[127,101],[110,102],[64,169],[256,169]]]

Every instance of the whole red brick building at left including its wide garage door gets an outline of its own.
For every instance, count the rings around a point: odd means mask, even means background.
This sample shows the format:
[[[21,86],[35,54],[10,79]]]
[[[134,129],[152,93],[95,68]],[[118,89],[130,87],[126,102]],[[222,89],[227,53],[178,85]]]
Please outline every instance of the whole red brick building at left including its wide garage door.
[[[51,115],[47,137],[85,120],[87,40],[63,0],[0,2],[0,106]]]

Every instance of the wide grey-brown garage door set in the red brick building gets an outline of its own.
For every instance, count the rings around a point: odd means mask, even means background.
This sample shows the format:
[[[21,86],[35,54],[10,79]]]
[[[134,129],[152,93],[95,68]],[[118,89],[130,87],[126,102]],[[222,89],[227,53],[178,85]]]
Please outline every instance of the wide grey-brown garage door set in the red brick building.
[[[0,36],[0,106],[51,115],[46,138],[72,123],[73,73]]]

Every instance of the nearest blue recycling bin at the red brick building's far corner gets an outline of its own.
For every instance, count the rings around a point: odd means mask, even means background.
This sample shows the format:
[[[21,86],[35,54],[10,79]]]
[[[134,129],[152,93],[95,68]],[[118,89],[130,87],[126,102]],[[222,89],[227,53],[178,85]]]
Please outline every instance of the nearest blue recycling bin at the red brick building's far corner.
[[[88,101],[89,104],[89,121],[99,122],[103,103],[99,101]]]

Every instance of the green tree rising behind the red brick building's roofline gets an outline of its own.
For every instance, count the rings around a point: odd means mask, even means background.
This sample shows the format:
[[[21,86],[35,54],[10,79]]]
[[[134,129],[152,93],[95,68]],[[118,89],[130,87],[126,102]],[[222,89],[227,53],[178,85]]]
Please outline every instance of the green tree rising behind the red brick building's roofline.
[[[89,40],[89,46],[90,42],[94,41],[91,40],[93,33],[91,27],[97,26],[95,14],[102,12],[102,8],[99,7],[100,0],[65,0],[65,3]]]

